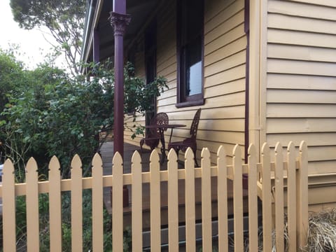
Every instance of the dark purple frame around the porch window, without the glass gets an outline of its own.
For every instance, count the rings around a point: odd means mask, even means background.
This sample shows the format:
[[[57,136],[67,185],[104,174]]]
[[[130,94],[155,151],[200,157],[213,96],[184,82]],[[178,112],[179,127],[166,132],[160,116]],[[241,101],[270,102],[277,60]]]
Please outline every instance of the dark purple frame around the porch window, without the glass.
[[[202,60],[202,72],[201,72],[201,93],[194,94],[194,95],[186,95],[186,81],[185,81],[185,73],[186,73],[186,66],[183,66],[183,62],[185,63],[186,60],[183,60],[183,52],[186,49],[183,49],[190,41],[186,39],[186,30],[183,29],[183,11],[188,11],[188,6],[186,1],[177,1],[177,19],[176,19],[176,54],[177,54],[177,101],[176,107],[186,107],[186,106],[199,106],[204,104],[204,0],[202,1],[202,27],[200,27],[199,33],[195,34],[195,38],[200,36],[201,39],[201,60]],[[196,39],[194,39],[195,41]]]

